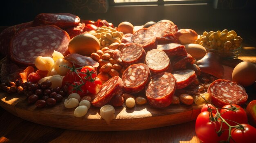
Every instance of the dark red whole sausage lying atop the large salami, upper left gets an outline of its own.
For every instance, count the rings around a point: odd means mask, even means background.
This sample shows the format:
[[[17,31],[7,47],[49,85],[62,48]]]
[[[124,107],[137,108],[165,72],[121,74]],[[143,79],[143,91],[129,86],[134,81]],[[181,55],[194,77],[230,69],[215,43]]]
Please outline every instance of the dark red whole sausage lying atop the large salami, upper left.
[[[34,19],[35,26],[56,25],[62,29],[77,26],[80,18],[70,13],[40,13]]]

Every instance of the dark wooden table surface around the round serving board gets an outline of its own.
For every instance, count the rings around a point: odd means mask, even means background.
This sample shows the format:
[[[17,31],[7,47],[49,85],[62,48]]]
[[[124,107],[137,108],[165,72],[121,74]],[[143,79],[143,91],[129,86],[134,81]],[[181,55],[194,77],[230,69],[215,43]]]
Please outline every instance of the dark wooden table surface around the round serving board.
[[[246,31],[239,31],[239,33],[244,37],[243,51],[239,59],[256,64],[254,33]],[[148,130],[89,132],[64,130],[32,123],[0,107],[0,143],[2,142],[200,143],[195,134],[195,121]]]

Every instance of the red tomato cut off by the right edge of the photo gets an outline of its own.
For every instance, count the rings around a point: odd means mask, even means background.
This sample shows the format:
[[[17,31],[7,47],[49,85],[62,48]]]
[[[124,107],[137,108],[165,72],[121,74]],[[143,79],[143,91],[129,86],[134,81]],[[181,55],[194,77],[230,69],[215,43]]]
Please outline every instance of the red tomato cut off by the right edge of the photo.
[[[249,123],[254,127],[256,127],[256,100],[251,101],[247,105],[246,112],[247,112]]]

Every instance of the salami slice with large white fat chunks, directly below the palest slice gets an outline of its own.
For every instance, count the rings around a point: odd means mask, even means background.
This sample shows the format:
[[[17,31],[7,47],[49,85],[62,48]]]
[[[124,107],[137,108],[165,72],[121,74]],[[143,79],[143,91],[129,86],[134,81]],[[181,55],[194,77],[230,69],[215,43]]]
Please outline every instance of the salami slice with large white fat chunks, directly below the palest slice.
[[[138,93],[144,89],[150,78],[150,71],[146,64],[133,64],[124,70],[122,80],[124,91]]]

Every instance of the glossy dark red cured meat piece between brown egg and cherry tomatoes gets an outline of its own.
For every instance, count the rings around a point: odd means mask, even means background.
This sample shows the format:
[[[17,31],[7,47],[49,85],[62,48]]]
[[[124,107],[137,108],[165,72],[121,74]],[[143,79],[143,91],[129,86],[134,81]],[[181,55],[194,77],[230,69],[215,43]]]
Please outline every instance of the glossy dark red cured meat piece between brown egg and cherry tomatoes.
[[[94,68],[99,67],[99,63],[94,61],[91,57],[83,56],[78,53],[68,54],[63,59],[73,63],[76,66],[76,68],[82,66],[93,66]]]

